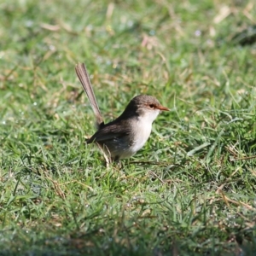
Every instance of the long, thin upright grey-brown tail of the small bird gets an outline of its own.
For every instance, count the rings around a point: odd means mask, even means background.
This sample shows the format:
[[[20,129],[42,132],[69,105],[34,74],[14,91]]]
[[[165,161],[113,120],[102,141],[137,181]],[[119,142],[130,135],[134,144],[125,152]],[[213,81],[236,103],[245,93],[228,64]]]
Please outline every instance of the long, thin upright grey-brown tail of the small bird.
[[[99,128],[101,125],[104,124],[104,122],[103,122],[102,114],[100,112],[98,104],[96,102],[96,97],[92,90],[92,86],[90,84],[90,78],[87,73],[86,67],[84,66],[84,63],[77,64],[75,67],[75,70],[76,70],[79,80],[80,80],[81,84],[83,85],[84,90],[89,98],[91,108],[96,116],[96,125],[97,125],[97,128]]]

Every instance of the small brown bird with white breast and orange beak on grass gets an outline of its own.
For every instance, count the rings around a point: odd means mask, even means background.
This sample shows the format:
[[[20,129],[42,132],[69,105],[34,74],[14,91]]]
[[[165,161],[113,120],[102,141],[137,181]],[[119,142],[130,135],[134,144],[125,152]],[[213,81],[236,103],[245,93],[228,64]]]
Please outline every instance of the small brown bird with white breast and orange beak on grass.
[[[138,95],[131,99],[117,119],[105,124],[84,63],[77,64],[75,71],[96,116],[97,131],[86,143],[98,144],[107,163],[136,154],[147,142],[154,119],[169,108],[163,107],[154,96]]]

